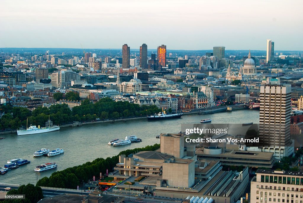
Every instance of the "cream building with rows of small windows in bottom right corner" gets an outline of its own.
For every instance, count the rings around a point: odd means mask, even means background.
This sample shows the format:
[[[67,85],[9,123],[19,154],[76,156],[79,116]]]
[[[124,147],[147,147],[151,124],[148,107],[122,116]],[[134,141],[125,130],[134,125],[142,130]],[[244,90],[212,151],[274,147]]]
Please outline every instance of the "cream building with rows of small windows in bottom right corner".
[[[303,202],[303,174],[298,171],[258,169],[251,180],[250,201]]]

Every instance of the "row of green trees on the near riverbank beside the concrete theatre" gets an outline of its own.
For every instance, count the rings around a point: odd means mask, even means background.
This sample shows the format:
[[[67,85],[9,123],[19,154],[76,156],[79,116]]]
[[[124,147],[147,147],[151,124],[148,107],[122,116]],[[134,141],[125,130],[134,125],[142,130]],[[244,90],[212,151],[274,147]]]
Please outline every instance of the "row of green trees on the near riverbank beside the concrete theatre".
[[[146,146],[144,148],[135,148],[121,151],[119,155],[129,155],[138,151],[154,151],[160,147],[159,144]],[[99,177],[100,172],[102,174],[112,172],[113,168],[119,161],[119,155],[104,158],[97,158],[92,162],[86,162],[85,164],[66,168],[62,171],[56,171],[48,177],[41,178],[37,186],[55,187],[55,188],[77,188],[82,181],[88,181],[93,176]]]

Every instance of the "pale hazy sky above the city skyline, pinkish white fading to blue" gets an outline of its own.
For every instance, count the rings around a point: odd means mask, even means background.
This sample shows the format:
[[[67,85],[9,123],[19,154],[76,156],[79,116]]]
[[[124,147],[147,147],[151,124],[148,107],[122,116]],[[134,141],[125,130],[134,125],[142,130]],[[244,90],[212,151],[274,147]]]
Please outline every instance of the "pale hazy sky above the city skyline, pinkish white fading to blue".
[[[302,0],[0,0],[0,47],[303,50]]]

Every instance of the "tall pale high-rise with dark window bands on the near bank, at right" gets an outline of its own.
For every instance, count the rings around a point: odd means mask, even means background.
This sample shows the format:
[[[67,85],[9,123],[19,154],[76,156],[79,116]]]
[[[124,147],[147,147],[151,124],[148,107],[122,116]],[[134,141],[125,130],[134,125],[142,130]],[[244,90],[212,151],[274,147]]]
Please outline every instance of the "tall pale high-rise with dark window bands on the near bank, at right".
[[[293,153],[290,139],[291,85],[260,87],[259,144],[280,159]]]

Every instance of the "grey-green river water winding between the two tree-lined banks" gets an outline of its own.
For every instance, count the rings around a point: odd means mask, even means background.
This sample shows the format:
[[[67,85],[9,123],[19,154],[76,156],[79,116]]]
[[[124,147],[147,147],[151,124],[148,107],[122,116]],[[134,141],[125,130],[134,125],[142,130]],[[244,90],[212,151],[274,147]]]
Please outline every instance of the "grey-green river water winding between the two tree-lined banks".
[[[155,138],[160,133],[178,133],[181,124],[200,123],[201,119],[211,118],[211,123],[259,123],[259,111],[238,110],[233,112],[221,112],[210,115],[183,115],[181,119],[164,121],[147,121],[147,119],[101,123],[84,125],[74,128],[61,128],[59,131],[36,135],[16,134],[0,135],[5,139],[0,140],[0,167],[4,167],[7,160],[23,158],[31,161],[30,164],[22,165],[17,169],[0,175],[1,183],[10,184],[35,184],[37,179],[50,176],[55,170],[63,170],[68,167],[83,164],[96,158],[112,157],[120,151],[129,148],[145,147],[159,143]],[[137,135],[142,142],[131,145],[113,147],[108,141],[115,138],[125,139],[127,135]],[[33,153],[40,148],[63,148],[64,154],[47,157],[33,157]],[[58,168],[41,173],[34,172],[37,165],[48,162],[56,162]]]

